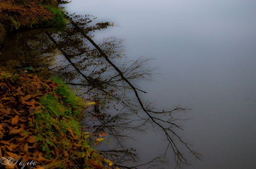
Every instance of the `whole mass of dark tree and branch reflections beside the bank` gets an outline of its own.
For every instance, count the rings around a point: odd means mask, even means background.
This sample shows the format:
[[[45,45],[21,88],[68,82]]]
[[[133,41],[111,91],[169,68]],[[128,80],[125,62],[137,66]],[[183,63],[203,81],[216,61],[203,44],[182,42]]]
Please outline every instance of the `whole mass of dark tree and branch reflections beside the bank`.
[[[77,16],[74,18],[76,19]],[[89,112],[90,117],[88,116],[87,119],[91,122],[87,122],[87,126],[91,126],[95,133],[109,133],[114,143],[109,149],[101,151],[108,153],[115,165],[122,168],[156,167],[159,162],[166,161],[165,156],[137,166],[124,165],[127,161],[139,160],[134,149],[125,147],[125,140],[133,139],[130,133],[145,132],[153,126],[153,129],[161,129],[165,134],[169,143],[166,152],[169,148],[172,149],[177,166],[182,163],[189,164],[180,152],[179,146],[182,145],[200,159],[200,156],[177,135],[175,130],[181,129],[176,123],[180,119],[176,119],[172,114],[186,109],[176,107],[170,111],[157,112],[151,103],[141,100],[138,92],[146,92],[134,83],[137,80],[151,79],[154,69],[146,66],[150,59],[139,58],[128,61],[123,54],[122,40],[116,38],[104,39],[99,45],[94,43],[93,34],[90,33],[113,26],[111,23],[93,25],[89,17],[80,18],[76,22],[70,20],[70,23],[62,31],[47,30],[37,35],[36,39],[24,42],[27,47],[25,50],[18,50],[17,60],[22,58],[20,62],[26,63],[26,67],[32,67],[39,75],[42,73],[40,70],[44,70],[46,77],[47,73],[50,76],[54,74],[62,77],[66,83],[97,101],[95,109]],[[26,55],[29,53],[34,61],[38,58],[39,62],[27,61]],[[40,62],[44,64],[38,64]]]

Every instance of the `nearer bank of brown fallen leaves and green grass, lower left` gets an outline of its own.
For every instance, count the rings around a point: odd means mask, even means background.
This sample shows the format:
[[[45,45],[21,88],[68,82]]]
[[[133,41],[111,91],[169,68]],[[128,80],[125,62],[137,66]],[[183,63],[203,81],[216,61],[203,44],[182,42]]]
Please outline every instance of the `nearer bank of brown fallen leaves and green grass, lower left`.
[[[41,169],[110,167],[112,162],[90,147],[104,138],[82,130],[84,110],[93,103],[57,78],[25,72],[0,72],[0,158],[34,160]]]

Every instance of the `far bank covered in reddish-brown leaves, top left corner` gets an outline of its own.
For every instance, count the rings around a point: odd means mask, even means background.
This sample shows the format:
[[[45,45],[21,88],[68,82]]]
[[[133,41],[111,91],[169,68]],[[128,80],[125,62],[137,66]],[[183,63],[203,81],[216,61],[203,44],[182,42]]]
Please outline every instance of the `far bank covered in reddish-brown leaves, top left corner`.
[[[57,5],[57,1],[36,2],[35,0],[0,0],[0,48],[6,37],[19,29],[43,26],[52,19],[52,13],[44,5]]]

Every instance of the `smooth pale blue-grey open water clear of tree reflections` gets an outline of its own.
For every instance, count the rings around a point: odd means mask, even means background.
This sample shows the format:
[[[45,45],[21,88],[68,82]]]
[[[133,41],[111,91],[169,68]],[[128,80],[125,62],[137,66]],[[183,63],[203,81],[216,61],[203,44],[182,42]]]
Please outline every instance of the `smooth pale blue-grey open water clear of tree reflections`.
[[[195,169],[256,168],[256,2],[253,0],[73,0],[66,10],[118,27],[95,40],[125,40],[129,59],[154,58],[162,75],[138,83],[161,108],[182,105],[183,139],[204,155]],[[162,155],[161,134],[138,135],[142,162]],[[172,166],[170,161],[170,166]],[[166,168],[169,168],[166,166]],[[171,167],[172,168],[172,167]]]

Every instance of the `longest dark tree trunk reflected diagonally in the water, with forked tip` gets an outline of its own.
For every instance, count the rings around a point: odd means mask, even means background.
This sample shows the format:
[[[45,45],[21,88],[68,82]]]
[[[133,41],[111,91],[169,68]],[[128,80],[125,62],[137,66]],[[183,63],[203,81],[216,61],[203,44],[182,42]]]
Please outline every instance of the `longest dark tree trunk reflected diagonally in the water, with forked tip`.
[[[127,77],[125,77],[125,74],[123,74],[123,72],[110,60],[111,58],[109,58],[107,56],[107,54],[89,37],[87,36],[86,32],[83,30],[83,28],[81,28],[81,26],[79,26],[77,23],[75,23],[72,19],[71,19],[71,23],[72,25],[76,28],[76,30],[78,32],[80,32],[88,41],[90,41],[91,44],[93,44],[93,46],[99,51],[100,55],[102,57],[105,58],[105,60],[111,65],[113,66],[113,68],[116,70],[116,72],[118,72],[118,74],[120,75],[120,77],[122,77],[122,80],[127,83],[131,89],[134,91],[136,98],[138,100],[138,103],[140,105],[140,107],[143,109],[143,112],[148,116],[148,117],[143,117],[141,119],[145,120],[145,123],[151,123],[152,126],[154,127],[157,126],[160,129],[162,129],[162,131],[165,133],[166,135],[166,139],[169,141],[169,145],[166,149],[166,151],[168,150],[169,146],[171,146],[172,151],[175,153],[175,160],[177,162],[177,166],[180,166],[181,163],[183,164],[188,164],[189,162],[186,160],[186,158],[183,156],[183,153],[180,152],[180,149],[177,146],[177,143],[175,142],[175,139],[179,140],[179,142],[185,146],[190,153],[192,153],[192,155],[194,155],[196,158],[200,159],[200,155],[193,151],[188,143],[185,143],[181,137],[179,135],[177,135],[177,133],[174,131],[173,128],[178,128],[181,129],[180,126],[178,126],[177,124],[174,123],[174,120],[177,119],[169,119],[169,120],[162,120],[159,117],[156,117],[156,115],[166,115],[166,114],[171,114],[172,112],[174,112],[175,110],[183,110],[182,108],[176,108],[170,111],[162,111],[162,112],[156,112],[156,111],[152,111],[151,109],[147,109],[146,106],[144,106],[142,100],[139,97],[139,94],[137,92],[137,89],[134,87],[134,85],[131,84],[131,82],[128,80]],[[131,109],[132,110],[132,109]]]

